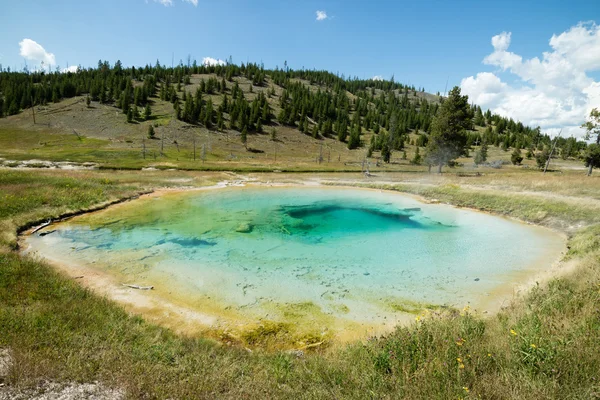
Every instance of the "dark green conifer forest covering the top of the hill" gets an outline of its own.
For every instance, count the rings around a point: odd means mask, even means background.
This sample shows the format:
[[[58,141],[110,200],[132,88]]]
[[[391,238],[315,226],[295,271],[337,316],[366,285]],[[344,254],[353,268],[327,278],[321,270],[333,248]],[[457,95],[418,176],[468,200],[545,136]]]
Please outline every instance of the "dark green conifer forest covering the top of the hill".
[[[202,80],[192,93],[187,86],[194,74],[216,77]],[[265,90],[247,100],[234,79],[241,76],[251,81],[251,89],[255,86]],[[276,103],[269,102],[268,98],[275,97],[275,86],[281,94]],[[489,110],[483,112],[481,107],[469,104],[467,97],[460,97],[455,89],[447,98],[434,96],[432,100],[432,96],[421,95],[424,88],[417,90],[397,83],[393,77],[391,80],[345,78],[328,71],[293,70],[287,65],[267,70],[255,63],[198,65],[191,60],[174,67],[157,61],[155,65],[126,68],[120,61],[110,65],[101,60],[96,68],[79,68],[75,73],[13,72],[0,68],[0,117],[87,95],[88,101],[118,107],[128,115],[128,120],[140,118],[140,108],[148,118],[149,99],[158,97],[170,101],[177,118],[190,124],[251,133],[261,132],[265,124],[276,121],[315,138],[337,137],[350,149],[366,145],[369,153],[380,151],[388,162],[392,152],[402,151],[406,143],[427,147],[427,155],[421,160],[438,166],[441,160],[448,163],[465,155],[465,149],[473,145],[483,147],[475,154],[475,161],[480,163],[485,162],[487,147],[492,145],[523,150],[530,158],[554,145],[539,127],[524,126]],[[222,96],[217,106],[209,96],[214,94]],[[272,104],[279,106],[277,115]],[[445,112],[450,112],[450,116]],[[453,113],[460,114],[461,122],[456,127],[462,132],[460,143],[449,140],[457,132],[448,130],[441,122],[454,118]],[[373,134],[369,143],[363,143],[365,132]],[[409,133],[416,134],[417,139],[411,142]],[[556,148],[560,157],[579,157],[587,144],[574,138],[558,138]]]

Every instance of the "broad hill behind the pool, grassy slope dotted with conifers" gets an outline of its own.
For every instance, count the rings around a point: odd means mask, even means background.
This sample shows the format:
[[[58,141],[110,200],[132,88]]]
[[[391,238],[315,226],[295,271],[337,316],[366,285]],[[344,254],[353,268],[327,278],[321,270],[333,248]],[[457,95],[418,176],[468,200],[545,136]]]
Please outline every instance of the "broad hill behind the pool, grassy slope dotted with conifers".
[[[356,170],[367,161],[371,170],[422,169],[411,161],[417,147],[423,158],[441,100],[390,81],[254,64],[2,72],[0,90],[0,157],[112,168]],[[550,146],[539,129],[471,111],[471,149],[484,140],[505,150]],[[575,159],[582,143],[559,147]],[[503,153],[497,158],[509,160]],[[472,165],[469,156],[459,161]]]

